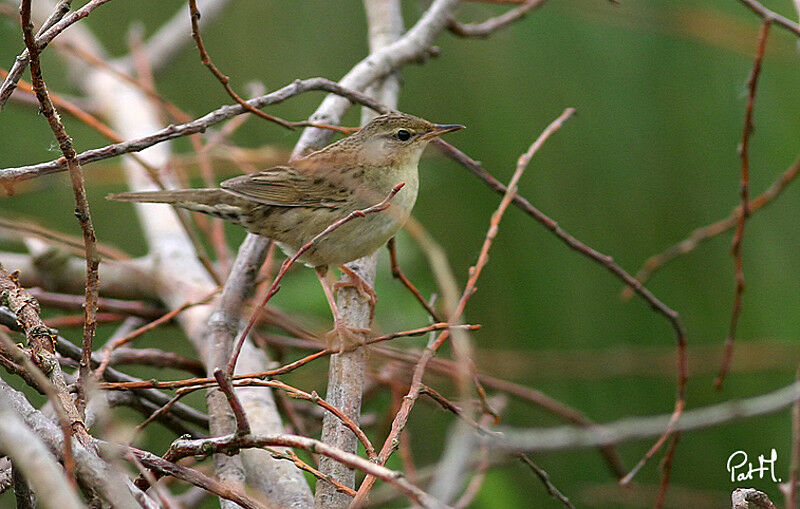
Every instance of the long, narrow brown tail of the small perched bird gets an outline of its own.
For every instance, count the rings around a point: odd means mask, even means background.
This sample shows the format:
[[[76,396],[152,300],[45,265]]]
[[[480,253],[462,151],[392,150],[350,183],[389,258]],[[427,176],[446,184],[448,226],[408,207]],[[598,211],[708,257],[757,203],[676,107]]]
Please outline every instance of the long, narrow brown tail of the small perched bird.
[[[110,194],[106,199],[116,201],[170,203],[196,212],[203,212],[229,221],[239,222],[246,213],[244,201],[224,189],[177,189]]]

